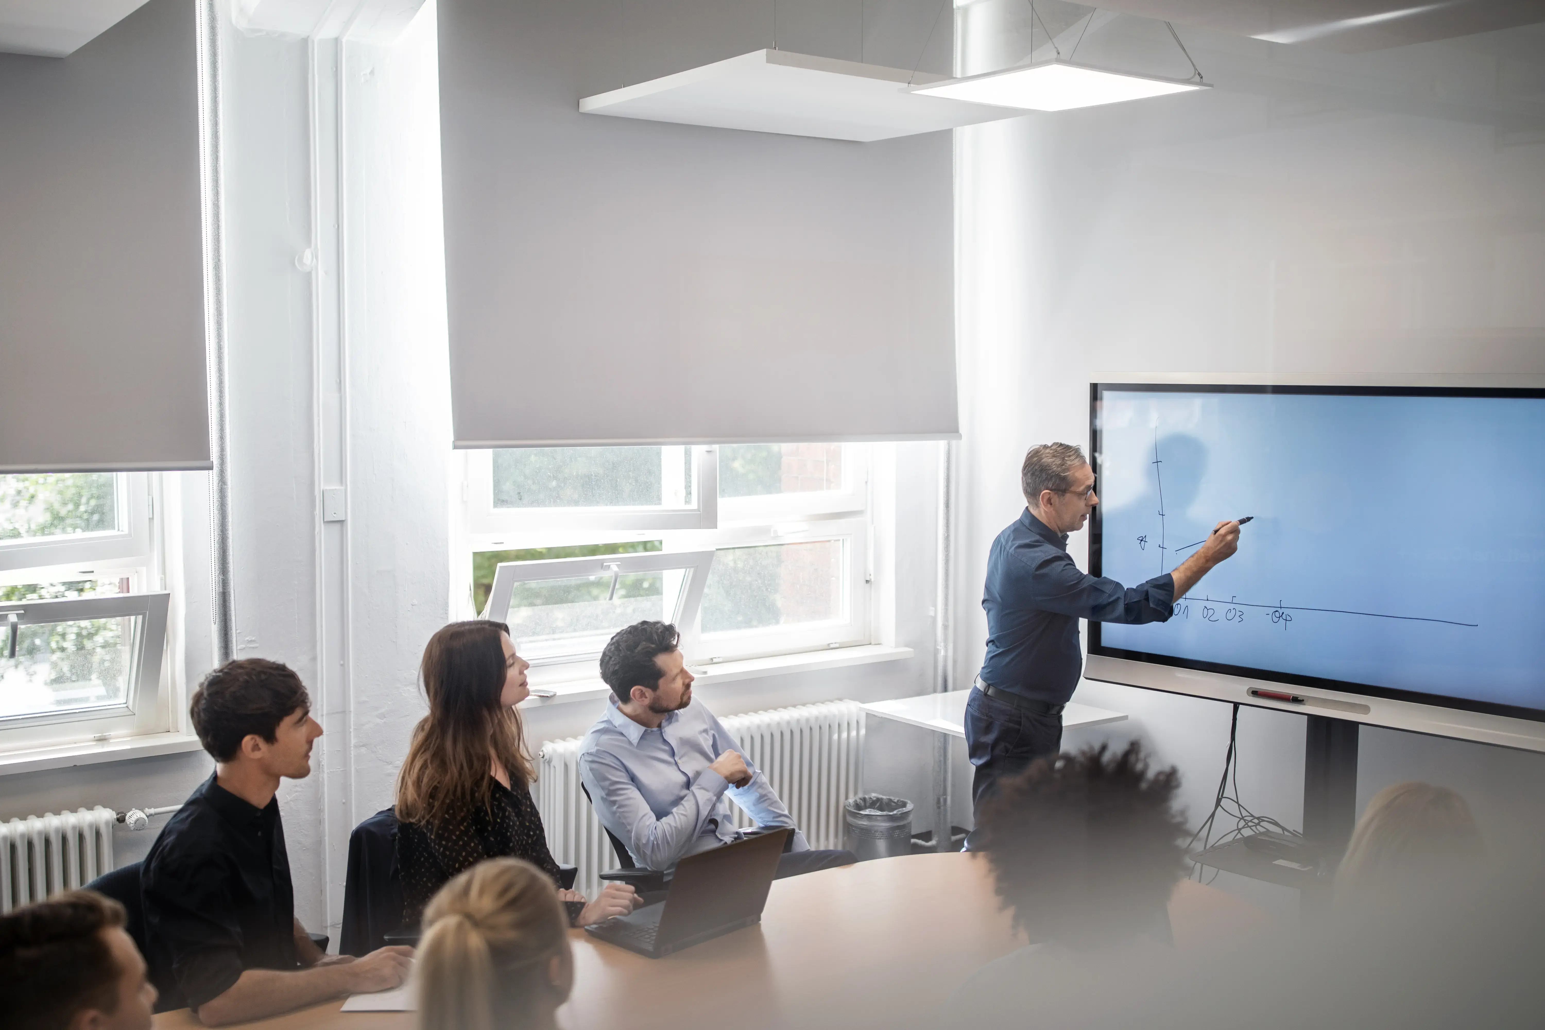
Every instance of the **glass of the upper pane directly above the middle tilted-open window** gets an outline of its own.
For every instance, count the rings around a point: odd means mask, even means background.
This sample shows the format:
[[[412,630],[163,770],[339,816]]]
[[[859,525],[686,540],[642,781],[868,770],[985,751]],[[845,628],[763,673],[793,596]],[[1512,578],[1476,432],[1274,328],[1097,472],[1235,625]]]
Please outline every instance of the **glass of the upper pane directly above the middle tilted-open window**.
[[[689,446],[493,452],[494,508],[691,508],[695,480]]]

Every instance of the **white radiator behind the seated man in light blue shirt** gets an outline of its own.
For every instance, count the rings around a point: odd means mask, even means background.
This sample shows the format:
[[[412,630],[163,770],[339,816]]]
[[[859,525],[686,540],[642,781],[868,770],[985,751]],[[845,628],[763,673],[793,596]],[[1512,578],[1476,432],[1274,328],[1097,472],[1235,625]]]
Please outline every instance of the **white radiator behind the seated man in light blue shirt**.
[[[766,774],[811,848],[840,848],[844,803],[859,792],[864,709],[857,701],[823,701],[720,720],[752,764]],[[542,743],[536,806],[547,846],[561,865],[579,866],[575,889],[595,897],[599,874],[618,868],[601,820],[579,789],[582,738]],[[737,826],[751,826],[734,805]]]

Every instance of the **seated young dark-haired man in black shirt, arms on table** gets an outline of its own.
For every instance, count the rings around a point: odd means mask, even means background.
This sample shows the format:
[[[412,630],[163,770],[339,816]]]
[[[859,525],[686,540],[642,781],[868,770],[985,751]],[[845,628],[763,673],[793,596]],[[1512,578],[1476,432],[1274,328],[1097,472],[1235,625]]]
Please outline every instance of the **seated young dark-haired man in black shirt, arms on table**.
[[[300,676],[261,658],[227,662],[199,684],[190,715],[215,774],[141,866],[158,1010],[187,1005],[215,1025],[399,987],[413,948],[328,957],[295,919],[275,792],[311,774],[321,737]]]

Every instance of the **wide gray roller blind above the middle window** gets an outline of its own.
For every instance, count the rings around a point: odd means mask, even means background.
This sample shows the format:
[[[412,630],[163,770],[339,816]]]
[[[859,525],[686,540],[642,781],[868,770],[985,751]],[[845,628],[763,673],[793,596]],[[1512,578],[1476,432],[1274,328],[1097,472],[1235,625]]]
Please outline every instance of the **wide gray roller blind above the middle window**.
[[[440,0],[457,446],[956,434],[950,133],[579,114],[769,9]]]

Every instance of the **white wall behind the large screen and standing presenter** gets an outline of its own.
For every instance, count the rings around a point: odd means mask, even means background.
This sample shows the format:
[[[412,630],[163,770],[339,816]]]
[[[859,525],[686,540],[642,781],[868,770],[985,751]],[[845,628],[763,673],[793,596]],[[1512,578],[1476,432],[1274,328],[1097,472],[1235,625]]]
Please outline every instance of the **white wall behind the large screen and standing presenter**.
[[[1029,53],[1015,11],[958,11],[966,71]],[[1080,59],[1188,74],[1153,28],[1091,31]],[[956,136],[961,683],[983,656],[987,548],[1023,510],[1020,460],[1034,443],[1088,446],[1098,374],[1545,372],[1545,124],[1528,99],[1542,26],[1360,56],[1183,36],[1216,90]],[[1082,533],[1069,550],[1083,561]],[[1180,766],[1193,818],[1207,814],[1228,706],[1109,684],[1078,700],[1132,717],[1085,738],[1146,740]],[[1302,726],[1241,718],[1244,798],[1287,825],[1302,814]],[[1364,729],[1361,757],[1360,803],[1429,778],[1469,797],[1494,840],[1539,825],[1545,757],[1384,729]]]

